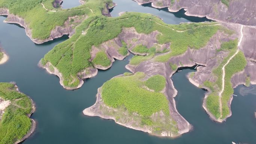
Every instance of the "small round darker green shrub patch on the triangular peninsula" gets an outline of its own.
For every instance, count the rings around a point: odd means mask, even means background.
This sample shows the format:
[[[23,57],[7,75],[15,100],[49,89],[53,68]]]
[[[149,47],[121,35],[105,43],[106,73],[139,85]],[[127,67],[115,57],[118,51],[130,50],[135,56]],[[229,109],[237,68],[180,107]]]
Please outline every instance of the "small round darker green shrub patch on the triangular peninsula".
[[[145,85],[149,89],[153,89],[155,92],[162,91],[165,87],[165,83],[166,83],[165,77],[159,74],[152,76],[145,81]]]

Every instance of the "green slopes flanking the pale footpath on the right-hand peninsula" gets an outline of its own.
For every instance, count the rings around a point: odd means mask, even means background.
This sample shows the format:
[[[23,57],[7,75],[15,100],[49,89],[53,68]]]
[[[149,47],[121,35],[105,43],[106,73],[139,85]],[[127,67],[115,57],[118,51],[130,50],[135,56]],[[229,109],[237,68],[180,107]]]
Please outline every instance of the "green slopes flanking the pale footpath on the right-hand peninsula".
[[[216,119],[225,119],[226,116],[228,116],[228,101],[234,93],[231,77],[246,67],[246,58],[243,52],[240,51],[225,67],[224,91],[220,97],[219,92],[222,89],[222,68],[228,62],[228,59],[231,58],[231,56],[237,51],[237,44],[237,39],[222,43],[220,50],[228,52],[228,55],[213,70],[213,75],[217,78],[217,80],[216,82],[204,82],[204,86],[211,90],[211,94],[206,99],[206,106],[210,113],[216,117]]]

